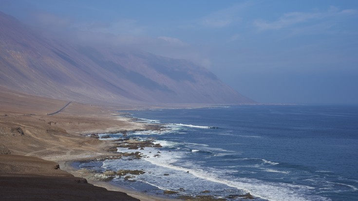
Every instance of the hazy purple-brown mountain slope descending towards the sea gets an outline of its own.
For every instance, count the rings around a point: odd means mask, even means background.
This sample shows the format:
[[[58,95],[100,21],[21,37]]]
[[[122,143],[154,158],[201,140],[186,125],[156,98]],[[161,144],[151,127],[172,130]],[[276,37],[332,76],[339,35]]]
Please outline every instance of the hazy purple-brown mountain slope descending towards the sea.
[[[0,86],[84,103],[255,103],[187,60],[45,38],[1,12]]]

